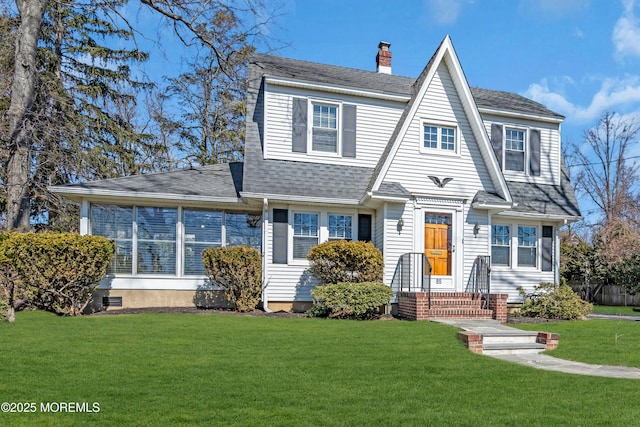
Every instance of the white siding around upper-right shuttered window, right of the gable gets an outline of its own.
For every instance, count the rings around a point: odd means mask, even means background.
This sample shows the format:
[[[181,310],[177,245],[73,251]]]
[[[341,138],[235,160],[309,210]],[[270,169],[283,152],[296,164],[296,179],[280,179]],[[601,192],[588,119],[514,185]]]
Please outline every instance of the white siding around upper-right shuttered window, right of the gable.
[[[505,179],[508,181],[533,182],[537,184],[560,184],[560,125],[495,115],[483,115],[482,119],[489,135],[491,135],[492,124],[517,129],[538,129],[540,131],[540,176],[529,176],[522,172],[504,171]]]

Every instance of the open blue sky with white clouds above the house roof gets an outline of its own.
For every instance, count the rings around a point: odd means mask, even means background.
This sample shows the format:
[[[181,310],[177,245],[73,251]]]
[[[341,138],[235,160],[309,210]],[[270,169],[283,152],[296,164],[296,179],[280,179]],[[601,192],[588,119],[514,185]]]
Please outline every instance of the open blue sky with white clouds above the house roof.
[[[285,0],[276,54],[417,77],[449,34],[471,86],[516,92],[566,116],[579,143],[605,111],[640,119],[640,0]]]

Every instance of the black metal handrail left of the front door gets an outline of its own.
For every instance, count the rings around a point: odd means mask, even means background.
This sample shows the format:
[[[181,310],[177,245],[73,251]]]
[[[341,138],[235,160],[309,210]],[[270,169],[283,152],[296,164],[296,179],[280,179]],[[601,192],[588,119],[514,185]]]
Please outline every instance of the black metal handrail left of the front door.
[[[431,263],[423,252],[400,255],[391,288],[396,292],[427,292],[431,308]]]

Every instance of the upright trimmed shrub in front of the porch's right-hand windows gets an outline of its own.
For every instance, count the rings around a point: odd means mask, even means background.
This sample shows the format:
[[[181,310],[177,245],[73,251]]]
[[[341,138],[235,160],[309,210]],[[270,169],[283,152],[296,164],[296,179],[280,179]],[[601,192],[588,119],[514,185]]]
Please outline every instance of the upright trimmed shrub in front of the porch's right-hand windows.
[[[237,311],[252,311],[262,298],[262,257],[250,246],[207,248],[202,263]]]

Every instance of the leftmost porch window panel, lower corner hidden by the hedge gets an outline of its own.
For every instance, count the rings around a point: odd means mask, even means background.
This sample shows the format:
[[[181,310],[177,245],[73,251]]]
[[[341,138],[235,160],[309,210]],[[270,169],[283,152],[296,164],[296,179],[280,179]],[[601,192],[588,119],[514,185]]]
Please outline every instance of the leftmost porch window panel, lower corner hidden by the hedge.
[[[111,239],[116,251],[109,273],[131,274],[133,259],[133,207],[91,205],[91,234]]]

